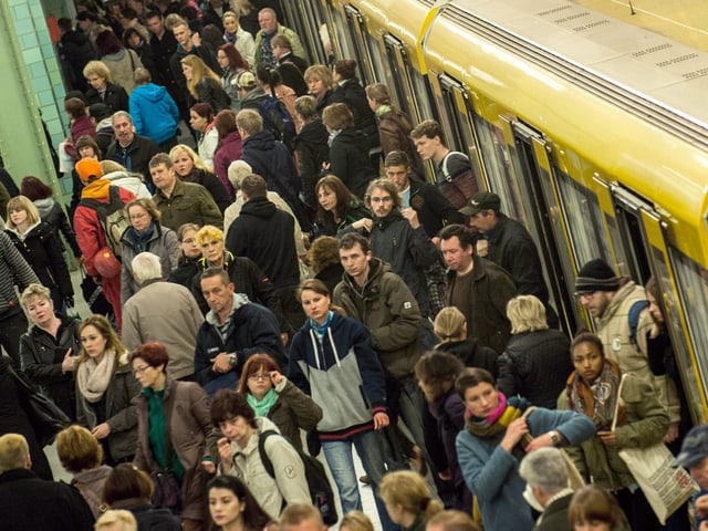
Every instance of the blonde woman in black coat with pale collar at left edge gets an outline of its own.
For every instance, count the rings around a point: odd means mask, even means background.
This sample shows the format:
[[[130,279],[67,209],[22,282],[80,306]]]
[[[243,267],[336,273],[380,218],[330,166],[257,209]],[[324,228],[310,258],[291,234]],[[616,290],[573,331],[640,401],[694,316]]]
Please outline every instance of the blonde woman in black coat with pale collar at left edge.
[[[42,221],[30,199],[17,196],[8,201],[4,231],[40,282],[51,290],[56,311],[73,306],[74,288],[59,235]]]

